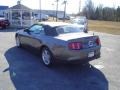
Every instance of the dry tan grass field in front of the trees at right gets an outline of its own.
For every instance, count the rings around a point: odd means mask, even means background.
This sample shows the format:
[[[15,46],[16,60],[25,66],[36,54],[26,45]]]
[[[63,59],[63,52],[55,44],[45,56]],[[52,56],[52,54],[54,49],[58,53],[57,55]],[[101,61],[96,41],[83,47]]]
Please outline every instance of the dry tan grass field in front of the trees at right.
[[[50,18],[49,21],[55,21],[56,19]],[[61,20],[58,20],[58,22]],[[65,22],[70,22],[69,20]],[[90,31],[109,33],[114,35],[120,35],[120,22],[112,21],[98,21],[98,20],[89,20],[88,29]]]

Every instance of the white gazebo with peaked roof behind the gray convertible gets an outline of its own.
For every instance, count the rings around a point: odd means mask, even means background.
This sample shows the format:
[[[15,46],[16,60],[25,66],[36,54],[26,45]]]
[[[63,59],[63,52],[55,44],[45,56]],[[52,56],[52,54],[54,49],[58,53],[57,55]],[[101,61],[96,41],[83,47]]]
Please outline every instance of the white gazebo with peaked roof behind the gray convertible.
[[[11,23],[11,26],[15,27],[28,27],[35,23],[32,18],[32,10],[17,2],[17,5],[10,7],[6,12],[6,17]]]

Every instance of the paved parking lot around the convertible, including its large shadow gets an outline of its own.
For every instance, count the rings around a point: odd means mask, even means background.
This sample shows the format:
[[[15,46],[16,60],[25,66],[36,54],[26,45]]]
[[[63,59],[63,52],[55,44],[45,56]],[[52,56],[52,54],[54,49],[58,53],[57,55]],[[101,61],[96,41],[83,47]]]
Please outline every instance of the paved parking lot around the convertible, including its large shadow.
[[[40,58],[15,47],[15,29],[0,30],[0,90],[119,90],[120,36],[100,36],[101,58],[90,64],[45,67]]]

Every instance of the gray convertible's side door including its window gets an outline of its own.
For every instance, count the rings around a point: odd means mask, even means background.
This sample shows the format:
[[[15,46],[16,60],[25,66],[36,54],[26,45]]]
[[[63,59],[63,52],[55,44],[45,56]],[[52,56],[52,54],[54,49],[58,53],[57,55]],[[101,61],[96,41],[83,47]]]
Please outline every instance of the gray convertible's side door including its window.
[[[44,35],[44,28],[42,25],[33,25],[27,32],[25,32],[24,43],[30,49],[39,49],[42,41],[41,38]]]

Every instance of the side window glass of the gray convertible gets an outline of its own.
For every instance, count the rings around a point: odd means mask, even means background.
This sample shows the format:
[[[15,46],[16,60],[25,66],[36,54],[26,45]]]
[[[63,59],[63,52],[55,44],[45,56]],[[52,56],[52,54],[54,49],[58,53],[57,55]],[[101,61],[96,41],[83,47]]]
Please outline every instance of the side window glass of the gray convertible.
[[[35,34],[44,34],[44,28],[41,25],[34,25],[29,30]]]

